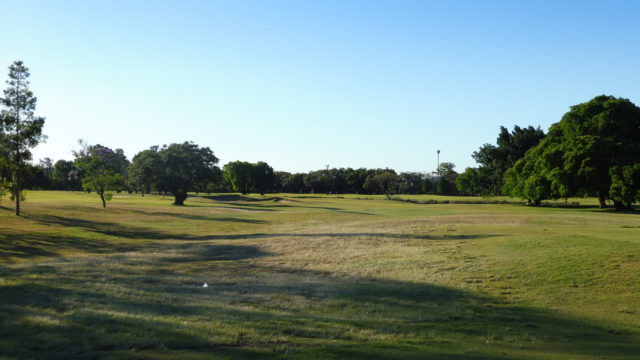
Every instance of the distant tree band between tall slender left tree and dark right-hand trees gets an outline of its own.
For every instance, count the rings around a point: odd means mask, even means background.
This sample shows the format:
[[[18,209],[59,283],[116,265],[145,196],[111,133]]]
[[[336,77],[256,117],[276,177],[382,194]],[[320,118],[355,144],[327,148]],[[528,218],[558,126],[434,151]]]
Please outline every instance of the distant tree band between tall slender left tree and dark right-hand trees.
[[[122,149],[80,142],[75,160],[49,158],[27,164],[23,187],[38,190],[84,190],[98,194],[103,206],[112,192],[171,194],[184,204],[187,192],[308,194],[455,195],[458,174],[451,163],[435,174],[396,173],[393,169],[327,168],[308,173],[274,171],[266,162],[233,161],[222,168],[211,149],[191,142],[152,146],[129,161]]]

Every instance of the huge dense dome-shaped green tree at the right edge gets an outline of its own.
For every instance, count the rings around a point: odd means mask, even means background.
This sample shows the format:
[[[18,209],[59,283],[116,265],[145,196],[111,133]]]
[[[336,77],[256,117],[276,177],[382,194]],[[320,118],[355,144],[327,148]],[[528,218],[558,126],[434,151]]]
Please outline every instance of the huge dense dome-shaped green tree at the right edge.
[[[640,163],[640,108],[628,99],[597,96],[571,107],[540,144],[505,174],[505,192],[539,201],[595,195],[628,208]],[[625,185],[626,184],[626,185]],[[626,190],[622,191],[621,186]]]

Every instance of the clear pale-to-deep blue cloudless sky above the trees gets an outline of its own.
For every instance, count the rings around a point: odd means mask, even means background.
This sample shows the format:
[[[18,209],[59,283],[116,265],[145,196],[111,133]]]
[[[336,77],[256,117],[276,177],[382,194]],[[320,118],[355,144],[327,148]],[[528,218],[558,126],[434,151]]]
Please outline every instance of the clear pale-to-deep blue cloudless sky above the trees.
[[[640,104],[640,2],[4,1],[46,143],[193,141],[220,165],[458,172],[500,126],[547,130],[601,95]]]

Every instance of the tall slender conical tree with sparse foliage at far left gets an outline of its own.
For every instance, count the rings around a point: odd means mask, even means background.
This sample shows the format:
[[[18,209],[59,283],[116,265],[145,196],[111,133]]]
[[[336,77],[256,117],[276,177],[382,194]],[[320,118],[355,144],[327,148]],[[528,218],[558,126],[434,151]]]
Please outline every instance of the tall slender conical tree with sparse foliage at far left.
[[[0,156],[11,174],[12,195],[16,201],[16,215],[20,216],[23,199],[22,172],[31,160],[30,148],[46,140],[42,134],[44,118],[35,116],[37,98],[29,90],[29,69],[22,61],[9,66],[9,85],[0,103]]]

